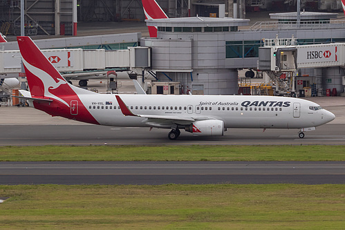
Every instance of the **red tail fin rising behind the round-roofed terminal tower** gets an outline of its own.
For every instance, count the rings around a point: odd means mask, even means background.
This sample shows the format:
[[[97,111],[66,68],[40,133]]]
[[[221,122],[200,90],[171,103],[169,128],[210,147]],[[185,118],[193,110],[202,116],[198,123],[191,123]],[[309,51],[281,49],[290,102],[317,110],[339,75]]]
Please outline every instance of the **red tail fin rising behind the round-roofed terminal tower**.
[[[345,0],[343,0],[345,1]],[[146,19],[167,19],[167,15],[160,8],[156,0],[142,0],[142,7],[144,8],[144,14]],[[147,26],[149,28],[150,37],[157,37],[156,26]]]

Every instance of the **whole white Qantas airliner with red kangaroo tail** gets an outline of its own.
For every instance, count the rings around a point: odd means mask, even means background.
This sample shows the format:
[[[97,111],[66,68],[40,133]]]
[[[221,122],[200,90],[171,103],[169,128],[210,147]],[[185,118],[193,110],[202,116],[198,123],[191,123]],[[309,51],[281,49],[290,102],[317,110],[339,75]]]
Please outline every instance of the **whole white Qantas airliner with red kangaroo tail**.
[[[97,94],[68,84],[30,37],[17,37],[30,92],[30,106],[52,116],[106,126],[180,129],[221,136],[227,128],[299,128],[316,126],[335,115],[314,102],[292,97],[240,95],[113,95]]]

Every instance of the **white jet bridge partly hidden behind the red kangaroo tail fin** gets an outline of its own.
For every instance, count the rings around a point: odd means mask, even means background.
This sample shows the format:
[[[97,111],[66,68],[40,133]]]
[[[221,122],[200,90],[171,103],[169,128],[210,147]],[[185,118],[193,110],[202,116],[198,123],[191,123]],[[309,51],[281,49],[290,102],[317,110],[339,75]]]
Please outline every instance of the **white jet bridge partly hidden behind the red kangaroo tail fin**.
[[[127,50],[42,50],[48,60],[60,72],[84,70],[106,70],[107,68],[149,68],[151,48],[129,47]],[[21,55],[19,50],[0,51],[0,74],[20,73]],[[141,73],[140,73],[141,74]]]

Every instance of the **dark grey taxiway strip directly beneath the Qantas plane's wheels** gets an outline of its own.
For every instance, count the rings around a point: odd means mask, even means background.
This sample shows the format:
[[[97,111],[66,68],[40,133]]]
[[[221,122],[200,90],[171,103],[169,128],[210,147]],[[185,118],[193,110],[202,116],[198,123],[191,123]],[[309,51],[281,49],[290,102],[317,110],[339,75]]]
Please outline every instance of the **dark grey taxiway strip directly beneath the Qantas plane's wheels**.
[[[169,140],[169,130],[153,128],[120,128],[95,125],[16,125],[0,126],[0,146],[36,145],[272,145],[272,144],[345,144],[345,124],[325,124],[316,131],[298,137],[297,129],[230,128],[220,137],[196,137],[181,131],[178,140]]]

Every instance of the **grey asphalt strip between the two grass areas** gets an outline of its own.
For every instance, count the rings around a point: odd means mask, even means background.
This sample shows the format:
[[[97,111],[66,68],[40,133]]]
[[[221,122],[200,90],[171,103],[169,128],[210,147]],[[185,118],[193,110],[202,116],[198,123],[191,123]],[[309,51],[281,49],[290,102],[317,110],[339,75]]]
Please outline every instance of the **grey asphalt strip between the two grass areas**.
[[[345,162],[0,162],[1,184],[344,184]]]

